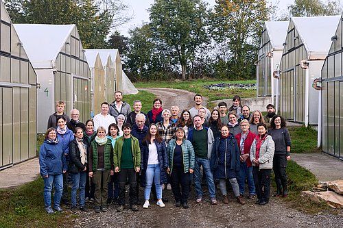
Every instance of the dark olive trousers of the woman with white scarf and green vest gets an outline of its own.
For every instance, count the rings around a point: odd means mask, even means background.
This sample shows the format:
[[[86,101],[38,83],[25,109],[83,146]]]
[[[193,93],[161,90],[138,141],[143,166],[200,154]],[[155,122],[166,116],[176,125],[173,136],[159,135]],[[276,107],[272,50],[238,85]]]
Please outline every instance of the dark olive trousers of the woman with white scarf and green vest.
[[[99,207],[100,205],[106,206],[108,196],[108,182],[110,182],[110,171],[96,170],[93,174],[93,182],[95,184],[95,207]]]

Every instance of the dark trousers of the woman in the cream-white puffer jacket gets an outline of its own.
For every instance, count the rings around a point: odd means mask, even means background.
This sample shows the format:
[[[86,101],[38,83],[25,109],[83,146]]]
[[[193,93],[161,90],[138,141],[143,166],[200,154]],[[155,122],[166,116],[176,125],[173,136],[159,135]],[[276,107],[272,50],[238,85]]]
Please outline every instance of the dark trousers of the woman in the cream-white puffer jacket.
[[[254,177],[257,198],[261,201],[269,201],[271,173],[272,169],[259,170],[258,166],[254,166],[254,168],[252,168],[252,176]]]

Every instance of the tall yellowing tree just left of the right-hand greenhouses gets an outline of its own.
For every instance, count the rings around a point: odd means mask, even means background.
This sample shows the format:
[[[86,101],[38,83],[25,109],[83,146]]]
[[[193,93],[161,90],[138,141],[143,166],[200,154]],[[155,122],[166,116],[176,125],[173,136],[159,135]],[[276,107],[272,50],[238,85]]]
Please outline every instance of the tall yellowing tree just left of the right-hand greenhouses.
[[[211,21],[213,38],[227,47],[228,76],[233,79],[253,77],[263,23],[268,21],[266,1],[217,0]]]

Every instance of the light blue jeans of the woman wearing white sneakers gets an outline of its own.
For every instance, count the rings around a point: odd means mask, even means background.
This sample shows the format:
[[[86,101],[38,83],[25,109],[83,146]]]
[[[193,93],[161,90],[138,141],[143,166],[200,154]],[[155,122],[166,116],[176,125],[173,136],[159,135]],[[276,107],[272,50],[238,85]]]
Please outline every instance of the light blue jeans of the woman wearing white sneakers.
[[[155,183],[157,199],[162,199],[160,164],[148,164],[145,172],[144,199],[150,199],[152,181]]]

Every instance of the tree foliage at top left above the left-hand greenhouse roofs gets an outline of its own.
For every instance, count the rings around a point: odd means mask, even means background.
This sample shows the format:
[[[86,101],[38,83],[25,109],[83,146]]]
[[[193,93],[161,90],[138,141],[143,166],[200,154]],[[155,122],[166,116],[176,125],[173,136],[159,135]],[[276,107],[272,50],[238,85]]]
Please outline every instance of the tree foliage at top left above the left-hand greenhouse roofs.
[[[122,0],[6,0],[13,23],[75,24],[85,49],[105,48],[110,29],[130,20]]]

